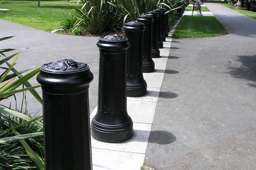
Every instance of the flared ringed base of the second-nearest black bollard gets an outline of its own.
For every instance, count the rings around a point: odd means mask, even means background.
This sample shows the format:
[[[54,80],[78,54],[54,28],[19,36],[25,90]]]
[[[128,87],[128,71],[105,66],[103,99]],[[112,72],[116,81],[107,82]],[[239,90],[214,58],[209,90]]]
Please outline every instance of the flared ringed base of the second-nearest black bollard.
[[[128,122],[122,125],[104,125],[93,118],[91,123],[91,135],[95,140],[101,142],[124,142],[133,135],[132,119],[129,117]]]

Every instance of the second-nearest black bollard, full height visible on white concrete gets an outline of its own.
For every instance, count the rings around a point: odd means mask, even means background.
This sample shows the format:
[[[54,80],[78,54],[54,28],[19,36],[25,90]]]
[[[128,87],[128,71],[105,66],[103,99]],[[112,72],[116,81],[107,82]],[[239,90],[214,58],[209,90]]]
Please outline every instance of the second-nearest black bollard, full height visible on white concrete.
[[[98,110],[92,119],[91,133],[96,140],[117,143],[133,134],[127,113],[126,56],[129,43],[118,34],[99,38]]]

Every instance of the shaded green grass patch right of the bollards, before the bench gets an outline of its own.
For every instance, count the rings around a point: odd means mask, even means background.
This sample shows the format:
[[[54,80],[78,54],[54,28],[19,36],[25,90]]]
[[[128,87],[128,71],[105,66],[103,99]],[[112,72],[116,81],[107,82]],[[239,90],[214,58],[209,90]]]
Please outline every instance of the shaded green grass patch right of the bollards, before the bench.
[[[172,38],[217,37],[227,30],[213,16],[183,16]]]

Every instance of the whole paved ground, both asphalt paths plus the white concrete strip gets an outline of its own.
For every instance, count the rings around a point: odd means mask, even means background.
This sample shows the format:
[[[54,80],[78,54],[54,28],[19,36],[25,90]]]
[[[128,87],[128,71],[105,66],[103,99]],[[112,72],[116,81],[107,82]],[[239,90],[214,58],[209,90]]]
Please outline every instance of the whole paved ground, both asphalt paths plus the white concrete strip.
[[[161,58],[154,59],[156,71],[144,74],[148,94],[127,98],[134,136],[118,144],[92,139],[94,170],[139,170],[145,155],[147,164],[163,170],[255,167],[255,20],[205,4],[230,34],[168,39]],[[46,33],[0,19],[0,37],[11,35],[16,37],[0,42],[0,48],[29,47],[19,56],[18,70],[64,58],[90,66],[92,118],[97,110],[98,37]],[[41,106],[30,99],[27,93],[29,112],[36,112]]]

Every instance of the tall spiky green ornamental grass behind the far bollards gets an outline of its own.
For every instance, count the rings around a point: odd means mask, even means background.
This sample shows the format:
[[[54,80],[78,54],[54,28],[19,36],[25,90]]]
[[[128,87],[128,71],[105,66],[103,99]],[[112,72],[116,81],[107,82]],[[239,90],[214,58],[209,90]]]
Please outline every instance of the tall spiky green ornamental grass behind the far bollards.
[[[78,17],[73,29],[81,26],[90,34],[100,34],[115,28],[122,28],[127,21],[135,21],[138,16],[167,6],[176,9],[176,0],[79,0],[72,15]]]

